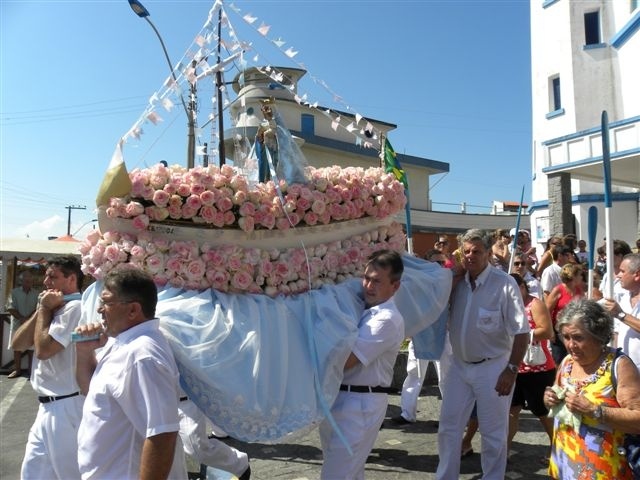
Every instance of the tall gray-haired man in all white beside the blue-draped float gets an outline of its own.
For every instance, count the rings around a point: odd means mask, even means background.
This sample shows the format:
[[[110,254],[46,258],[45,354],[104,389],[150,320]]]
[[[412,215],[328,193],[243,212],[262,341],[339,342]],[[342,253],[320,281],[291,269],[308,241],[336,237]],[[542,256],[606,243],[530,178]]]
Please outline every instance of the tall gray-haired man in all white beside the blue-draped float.
[[[502,480],[507,425],[518,367],[529,343],[529,322],[515,280],[489,263],[489,232],[462,236],[464,279],[451,294],[451,365],[442,382],[436,478],[460,475],[460,445],[474,402],[482,434],[483,479]]]

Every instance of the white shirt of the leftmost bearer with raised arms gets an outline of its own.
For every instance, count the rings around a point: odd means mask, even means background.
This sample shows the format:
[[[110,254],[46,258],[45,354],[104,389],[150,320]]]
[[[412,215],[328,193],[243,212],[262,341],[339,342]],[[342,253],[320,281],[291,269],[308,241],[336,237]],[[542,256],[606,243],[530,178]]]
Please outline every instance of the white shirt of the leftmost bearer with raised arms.
[[[69,346],[71,332],[78,326],[80,314],[80,300],[70,300],[53,313],[49,335],[64,350],[46,360],[34,356],[31,386],[38,395],[57,397],[80,390],[76,382],[76,349]]]

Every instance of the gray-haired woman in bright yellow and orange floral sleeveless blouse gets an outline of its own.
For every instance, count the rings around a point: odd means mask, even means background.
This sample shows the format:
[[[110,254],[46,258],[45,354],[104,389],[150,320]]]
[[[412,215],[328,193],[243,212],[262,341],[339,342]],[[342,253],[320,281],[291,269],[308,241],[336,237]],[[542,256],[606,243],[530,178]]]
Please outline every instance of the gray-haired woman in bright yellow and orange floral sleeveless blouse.
[[[568,355],[544,395],[554,414],[549,474],[555,479],[632,479],[618,452],[625,433],[640,433],[640,373],[626,355],[608,347],[609,314],[591,300],[577,300],[560,313],[557,329]]]

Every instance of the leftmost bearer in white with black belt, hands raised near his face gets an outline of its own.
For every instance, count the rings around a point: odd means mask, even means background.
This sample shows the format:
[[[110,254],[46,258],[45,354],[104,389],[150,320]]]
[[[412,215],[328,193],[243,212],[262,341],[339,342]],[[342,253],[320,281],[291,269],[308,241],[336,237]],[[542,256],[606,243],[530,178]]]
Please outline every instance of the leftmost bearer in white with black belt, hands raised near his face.
[[[71,332],[80,320],[80,260],[54,257],[47,264],[36,313],[16,331],[14,350],[35,350],[31,385],[38,394],[38,414],[29,431],[21,478],[78,478],[76,435],[82,402],[75,378]]]

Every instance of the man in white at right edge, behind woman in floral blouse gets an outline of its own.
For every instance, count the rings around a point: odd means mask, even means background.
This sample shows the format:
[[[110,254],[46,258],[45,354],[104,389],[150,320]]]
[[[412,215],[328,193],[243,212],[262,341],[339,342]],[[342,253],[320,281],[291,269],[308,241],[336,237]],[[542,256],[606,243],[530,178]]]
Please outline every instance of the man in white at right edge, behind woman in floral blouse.
[[[614,317],[617,346],[640,367],[640,254],[624,256],[616,279],[622,292],[617,297],[606,298],[603,307]]]

